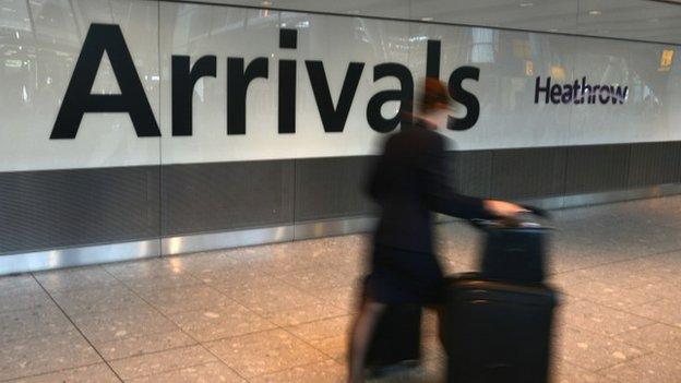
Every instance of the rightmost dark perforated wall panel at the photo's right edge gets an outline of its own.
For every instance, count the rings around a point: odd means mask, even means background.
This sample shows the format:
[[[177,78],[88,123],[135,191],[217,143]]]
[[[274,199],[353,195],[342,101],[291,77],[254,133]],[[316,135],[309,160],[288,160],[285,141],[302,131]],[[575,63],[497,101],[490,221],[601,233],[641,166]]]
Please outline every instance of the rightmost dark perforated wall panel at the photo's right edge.
[[[655,142],[632,145],[629,187],[681,181],[681,143]]]

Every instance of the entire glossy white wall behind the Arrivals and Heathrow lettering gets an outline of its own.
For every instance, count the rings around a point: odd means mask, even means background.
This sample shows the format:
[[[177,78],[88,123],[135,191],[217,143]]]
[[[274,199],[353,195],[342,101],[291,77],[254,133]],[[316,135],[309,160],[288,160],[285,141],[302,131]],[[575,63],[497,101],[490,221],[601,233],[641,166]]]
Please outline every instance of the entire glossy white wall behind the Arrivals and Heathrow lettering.
[[[33,24],[3,22],[0,28],[10,41],[0,52],[0,171],[374,153],[382,134],[369,127],[367,104],[377,92],[398,83],[374,83],[373,68],[405,64],[418,84],[426,73],[429,38],[442,41],[442,80],[462,65],[480,69],[479,81],[464,82],[480,103],[479,120],[470,130],[446,132],[461,149],[681,140],[678,46],[177,2],[29,4]],[[403,12],[399,4],[395,12]],[[160,140],[138,137],[126,113],[87,113],[74,140],[49,140],[92,23],[122,28]],[[279,48],[280,27],[298,31],[297,49]],[[676,57],[660,69],[664,50]],[[192,63],[202,56],[217,57],[216,76],[200,80],[194,88],[191,136],[171,135],[174,55],[188,55]],[[226,134],[228,57],[247,63],[268,59],[268,79],[249,87],[244,135]],[[277,132],[282,59],[297,60],[295,134]],[[324,132],[304,60],[323,61],[334,103],[348,63],[365,63],[342,133]],[[93,93],[119,91],[108,65],[105,59]],[[623,105],[535,104],[536,76],[561,83],[587,76],[594,84],[629,86],[630,97]],[[384,116],[396,108],[397,103],[387,105]]]

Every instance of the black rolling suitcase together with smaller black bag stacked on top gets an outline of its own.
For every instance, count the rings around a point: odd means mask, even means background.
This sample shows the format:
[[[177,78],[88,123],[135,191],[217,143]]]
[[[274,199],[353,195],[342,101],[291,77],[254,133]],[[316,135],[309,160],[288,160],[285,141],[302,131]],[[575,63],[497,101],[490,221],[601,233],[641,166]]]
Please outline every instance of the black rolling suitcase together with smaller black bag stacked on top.
[[[477,226],[486,232],[481,271],[447,286],[447,381],[546,383],[557,306],[557,292],[542,284],[547,230],[517,222]]]

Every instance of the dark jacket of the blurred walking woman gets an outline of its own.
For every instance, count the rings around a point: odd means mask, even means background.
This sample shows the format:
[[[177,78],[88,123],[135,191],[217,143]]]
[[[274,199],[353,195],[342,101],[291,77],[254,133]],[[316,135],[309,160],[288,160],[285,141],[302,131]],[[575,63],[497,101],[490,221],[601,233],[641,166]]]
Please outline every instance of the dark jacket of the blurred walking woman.
[[[457,194],[447,182],[445,140],[417,123],[385,143],[369,182],[369,194],[381,206],[377,244],[432,252],[431,212],[490,217],[482,200]]]

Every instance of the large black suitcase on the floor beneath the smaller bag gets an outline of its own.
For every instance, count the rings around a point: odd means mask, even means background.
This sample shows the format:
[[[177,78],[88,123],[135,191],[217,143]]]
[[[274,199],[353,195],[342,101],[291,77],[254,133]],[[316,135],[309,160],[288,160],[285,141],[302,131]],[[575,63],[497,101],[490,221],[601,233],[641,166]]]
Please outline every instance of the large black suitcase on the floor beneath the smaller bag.
[[[450,383],[546,383],[557,294],[466,275],[451,280],[442,342]]]

